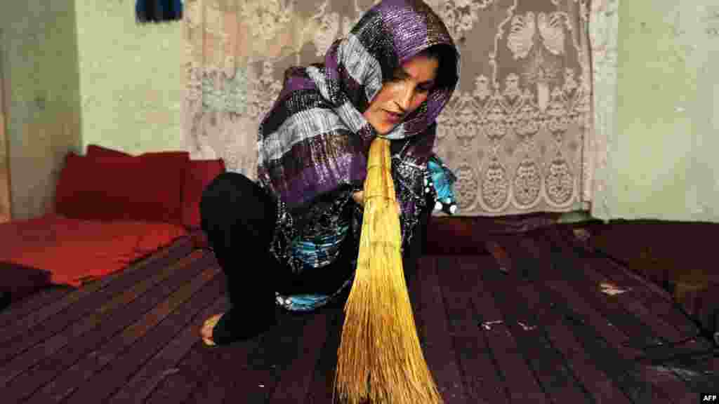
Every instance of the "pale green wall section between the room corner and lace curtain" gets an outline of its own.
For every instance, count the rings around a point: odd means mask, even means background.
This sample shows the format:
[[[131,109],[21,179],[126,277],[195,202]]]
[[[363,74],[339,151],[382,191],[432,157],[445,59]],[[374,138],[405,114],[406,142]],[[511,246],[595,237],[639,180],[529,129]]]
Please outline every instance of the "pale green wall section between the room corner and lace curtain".
[[[83,147],[183,150],[181,22],[137,24],[134,0],[75,0]]]

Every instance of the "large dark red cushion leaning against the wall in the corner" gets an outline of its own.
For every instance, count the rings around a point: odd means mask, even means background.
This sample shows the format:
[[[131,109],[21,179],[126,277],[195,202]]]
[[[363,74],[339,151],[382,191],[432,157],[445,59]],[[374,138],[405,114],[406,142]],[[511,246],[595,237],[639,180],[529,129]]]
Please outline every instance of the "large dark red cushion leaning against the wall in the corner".
[[[70,153],[60,173],[56,212],[73,219],[182,224],[186,152],[142,157]]]

